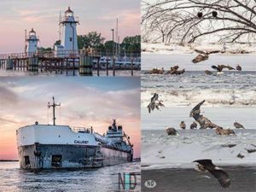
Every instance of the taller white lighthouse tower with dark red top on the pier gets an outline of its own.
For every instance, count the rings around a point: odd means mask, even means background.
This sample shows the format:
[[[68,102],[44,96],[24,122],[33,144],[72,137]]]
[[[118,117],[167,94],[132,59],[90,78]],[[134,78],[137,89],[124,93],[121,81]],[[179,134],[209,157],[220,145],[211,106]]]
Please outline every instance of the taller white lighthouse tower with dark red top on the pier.
[[[64,50],[78,49],[78,23],[78,18],[73,16],[73,11],[68,7],[67,11],[65,11],[65,15],[60,20],[60,25],[62,26],[61,45]]]

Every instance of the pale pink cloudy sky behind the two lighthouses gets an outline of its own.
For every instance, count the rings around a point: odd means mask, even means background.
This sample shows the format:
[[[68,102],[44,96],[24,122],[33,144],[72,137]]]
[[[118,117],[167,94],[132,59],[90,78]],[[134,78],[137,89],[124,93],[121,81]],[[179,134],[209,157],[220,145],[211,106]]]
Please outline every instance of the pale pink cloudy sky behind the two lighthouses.
[[[119,18],[120,40],[140,34],[140,0],[1,0],[0,54],[24,50],[25,29],[32,27],[39,46],[51,47],[58,40],[58,20],[70,6],[79,16],[78,34],[101,32],[112,39],[111,29]]]

